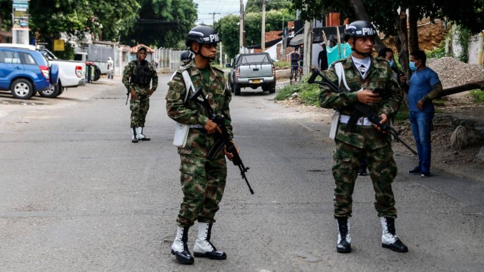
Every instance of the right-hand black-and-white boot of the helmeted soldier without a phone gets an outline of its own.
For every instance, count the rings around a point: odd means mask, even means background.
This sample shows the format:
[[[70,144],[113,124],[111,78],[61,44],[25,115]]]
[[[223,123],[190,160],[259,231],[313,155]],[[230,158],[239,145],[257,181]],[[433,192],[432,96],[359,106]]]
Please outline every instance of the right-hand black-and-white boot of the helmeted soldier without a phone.
[[[207,257],[209,259],[223,260],[227,258],[225,252],[217,251],[210,242],[212,223],[198,223],[198,236],[193,247],[195,257]]]

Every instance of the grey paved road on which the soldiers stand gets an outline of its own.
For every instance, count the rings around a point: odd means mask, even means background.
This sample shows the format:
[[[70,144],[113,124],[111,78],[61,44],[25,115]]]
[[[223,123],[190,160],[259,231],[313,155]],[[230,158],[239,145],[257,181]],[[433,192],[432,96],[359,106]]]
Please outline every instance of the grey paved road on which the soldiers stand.
[[[0,103],[0,271],[481,271],[484,184],[436,169],[421,179],[396,154],[397,233],[383,249],[369,177],[353,196],[353,252],[335,252],[327,115],[243,92],[231,108],[255,195],[229,165],[213,242],[228,259],[178,265],[169,253],[181,199],[166,83],[132,144],[119,82],[52,102]],[[107,82],[107,81],[104,81]],[[102,82],[101,82],[102,83]],[[0,100],[5,100],[0,95]],[[30,102],[32,102],[30,101]],[[39,105],[42,103],[46,105]],[[190,233],[190,241],[195,233]]]

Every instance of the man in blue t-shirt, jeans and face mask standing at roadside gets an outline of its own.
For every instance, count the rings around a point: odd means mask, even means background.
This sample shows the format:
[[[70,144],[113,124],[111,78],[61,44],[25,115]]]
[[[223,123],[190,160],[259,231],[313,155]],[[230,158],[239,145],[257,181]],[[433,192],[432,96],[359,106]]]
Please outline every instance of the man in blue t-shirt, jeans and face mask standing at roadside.
[[[420,177],[430,176],[432,154],[430,131],[435,111],[432,99],[442,92],[439,76],[425,65],[426,61],[427,56],[422,50],[410,53],[409,66],[413,74],[408,81],[408,108],[413,138],[417,145],[418,165],[408,171],[408,174],[420,174]],[[400,81],[405,82],[405,77],[401,76]]]

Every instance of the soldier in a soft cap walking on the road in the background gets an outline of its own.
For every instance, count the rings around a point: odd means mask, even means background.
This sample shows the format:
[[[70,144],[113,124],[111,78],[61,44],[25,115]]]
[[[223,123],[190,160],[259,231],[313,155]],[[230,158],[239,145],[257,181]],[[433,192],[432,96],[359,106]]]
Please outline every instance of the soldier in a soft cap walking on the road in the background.
[[[131,61],[123,72],[123,84],[131,94],[131,142],[150,141],[143,134],[145,118],[150,108],[150,96],[158,87],[158,75],[153,65],[146,61],[147,49],[143,46],[138,48],[137,59]],[[152,86],[150,89],[150,82]]]

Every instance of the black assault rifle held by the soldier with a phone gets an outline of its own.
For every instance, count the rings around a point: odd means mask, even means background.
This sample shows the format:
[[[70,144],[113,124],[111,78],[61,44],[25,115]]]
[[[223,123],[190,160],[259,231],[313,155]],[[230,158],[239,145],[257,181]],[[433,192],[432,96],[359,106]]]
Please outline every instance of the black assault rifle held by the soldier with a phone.
[[[316,81],[316,77],[318,77],[318,76],[321,77],[321,79],[322,79],[321,81]],[[319,72],[316,69],[313,71],[313,74],[309,78],[308,83],[309,84],[316,83],[316,84],[319,84],[319,85],[327,86],[331,90],[333,90],[337,93],[344,92],[338,86],[336,86],[336,84],[334,84],[332,81],[330,81],[323,74],[321,74],[321,72]],[[384,95],[385,90],[375,89],[373,92],[379,93],[380,96],[382,96],[382,95]],[[395,128],[390,126],[388,123],[381,124],[380,121],[382,120],[382,118],[380,118],[380,116],[378,116],[378,114],[373,112],[367,105],[365,105],[361,102],[356,102],[356,104],[353,105],[353,108],[355,109],[355,111],[349,117],[348,125],[347,125],[348,131],[350,131],[350,132],[354,131],[354,127],[356,125],[356,122],[358,121],[358,119],[360,117],[367,117],[370,120],[370,122],[376,124],[378,127],[380,127],[380,129],[382,131],[387,131],[388,133],[390,133],[393,136],[393,138],[395,140],[397,140],[402,145],[404,145],[406,148],[408,148],[408,150],[410,150],[413,154],[418,155],[415,150],[413,150],[410,146],[408,146],[405,142],[403,142],[403,140],[400,137],[398,137],[399,132],[397,132],[395,130]]]

